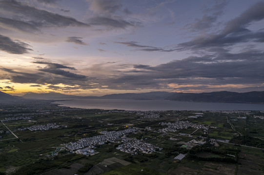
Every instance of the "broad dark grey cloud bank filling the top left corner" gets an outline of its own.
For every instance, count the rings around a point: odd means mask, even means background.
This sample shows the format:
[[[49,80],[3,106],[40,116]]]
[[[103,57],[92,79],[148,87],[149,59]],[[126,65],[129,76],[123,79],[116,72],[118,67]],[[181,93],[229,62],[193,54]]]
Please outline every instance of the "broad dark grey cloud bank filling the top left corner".
[[[52,1],[46,0],[45,2]],[[16,0],[1,0],[0,10],[7,12],[8,15],[2,17],[0,23],[9,28],[25,32],[36,31],[42,27],[89,26],[74,18],[40,10]]]

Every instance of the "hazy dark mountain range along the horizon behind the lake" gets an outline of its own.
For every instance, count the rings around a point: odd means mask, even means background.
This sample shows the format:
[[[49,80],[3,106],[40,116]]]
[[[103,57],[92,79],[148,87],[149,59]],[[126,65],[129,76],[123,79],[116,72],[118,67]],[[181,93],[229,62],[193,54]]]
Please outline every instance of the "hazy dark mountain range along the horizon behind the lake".
[[[252,92],[204,92],[204,93],[176,93],[176,92],[147,92],[147,93],[123,93],[97,96],[65,95],[56,92],[27,93],[21,97],[12,96],[0,92],[0,100],[19,99],[132,99],[132,100],[173,100],[184,102],[220,102],[220,103],[264,103],[264,91]]]

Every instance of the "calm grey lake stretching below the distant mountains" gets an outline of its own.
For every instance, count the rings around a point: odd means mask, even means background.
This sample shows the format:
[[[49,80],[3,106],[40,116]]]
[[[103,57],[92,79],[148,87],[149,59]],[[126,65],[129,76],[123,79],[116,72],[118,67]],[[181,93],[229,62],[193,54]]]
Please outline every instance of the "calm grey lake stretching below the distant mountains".
[[[78,99],[56,102],[61,106],[85,109],[120,110],[263,110],[264,104],[199,103],[168,100]]]

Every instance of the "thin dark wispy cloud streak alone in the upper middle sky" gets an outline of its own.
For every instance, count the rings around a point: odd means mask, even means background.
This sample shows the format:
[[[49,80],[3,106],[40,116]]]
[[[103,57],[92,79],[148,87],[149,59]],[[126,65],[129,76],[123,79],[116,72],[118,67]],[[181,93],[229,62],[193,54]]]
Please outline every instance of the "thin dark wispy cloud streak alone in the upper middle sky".
[[[128,41],[128,42],[114,42],[118,44],[123,44],[128,47],[134,47],[134,48],[140,48],[136,49],[137,51],[148,51],[148,52],[153,52],[153,51],[160,51],[160,52],[173,52],[178,49],[164,49],[164,48],[158,48],[158,47],[153,47],[153,46],[144,46],[144,45],[139,45],[135,41]]]

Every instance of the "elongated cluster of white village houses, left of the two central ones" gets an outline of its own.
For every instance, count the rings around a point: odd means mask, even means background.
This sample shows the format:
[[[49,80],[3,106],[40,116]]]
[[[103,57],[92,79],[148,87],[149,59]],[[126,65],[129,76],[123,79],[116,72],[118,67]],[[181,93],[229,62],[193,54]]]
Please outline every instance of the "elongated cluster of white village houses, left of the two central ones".
[[[115,142],[117,140],[120,140],[122,136],[129,133],[134,133],[136,131],[137,129],[133,128],[125,129],[122,131],[102,131],[101,134],[103,135],[83,138],[76,142],[67,143],[65,148],[69,151],[79,150],[78,152],[83,152],[81,150],[84,148],[95,148],[95,146],[102,145],[105,142]]]

